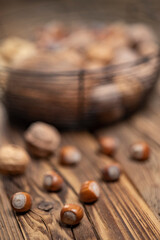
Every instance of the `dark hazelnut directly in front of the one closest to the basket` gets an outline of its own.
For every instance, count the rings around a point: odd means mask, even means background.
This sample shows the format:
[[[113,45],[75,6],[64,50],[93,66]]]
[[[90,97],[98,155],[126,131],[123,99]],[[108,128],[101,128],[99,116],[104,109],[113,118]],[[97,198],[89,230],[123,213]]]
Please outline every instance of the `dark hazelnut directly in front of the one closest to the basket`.
[[[119,179],[121,169],[118,164],[108,164],[102,169],[102,178],[105,181],[116,181]]]

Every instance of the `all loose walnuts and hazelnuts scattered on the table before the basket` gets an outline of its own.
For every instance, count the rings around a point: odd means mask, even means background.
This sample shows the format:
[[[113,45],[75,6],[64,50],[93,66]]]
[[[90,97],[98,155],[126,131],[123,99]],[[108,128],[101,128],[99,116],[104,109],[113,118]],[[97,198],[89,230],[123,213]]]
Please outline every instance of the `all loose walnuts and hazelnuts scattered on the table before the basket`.
[[[46,123],[33,123],[24,134],[29,153],[38,158],[46,158],[53,154],[60,144],[60,133],[53,126]],[[108,136],[99,138],[100,150],[108,156],[114,155],[118,147],[117,139]],[[137,142],[131,146],[132,158],[144,161],[149,158],[150,149],[147,143]],[[64,146],[59,153],[59,162],[62,165],[73,165],[80,162],[82,155],[74,146]],[[26,170],[30,162],[28,153],[19,146],[5,145],[0,148],[0,173],[17,175]],[[106,164],[101,171],[102,179],[114,182],[120,178],[121,167],[118,163]],[[64,180],[55,171],[44,174],[43,188],[48,192],[58,192],[63,188]],[[83,204],[94,203],[100,196],[100,187],[96,181],[82,183],[79,190],[79,200]],[[32,206],[32,197],[26,192],[17,192],[11,198],[11,206],[16,212],[27,212]],[[65,204],[60,212],[63,224],[77,225],[83,218],[83,209],[77,204]]]

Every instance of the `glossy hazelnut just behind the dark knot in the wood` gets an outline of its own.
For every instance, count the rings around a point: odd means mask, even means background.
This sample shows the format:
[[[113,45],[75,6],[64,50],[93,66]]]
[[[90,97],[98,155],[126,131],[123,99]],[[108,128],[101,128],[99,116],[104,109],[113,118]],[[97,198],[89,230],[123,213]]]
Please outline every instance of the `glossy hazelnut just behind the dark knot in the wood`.
[[[63,179],[56,172],[50,171],[44,175],[43,185],[48,191],[59,191],[63,186]]]

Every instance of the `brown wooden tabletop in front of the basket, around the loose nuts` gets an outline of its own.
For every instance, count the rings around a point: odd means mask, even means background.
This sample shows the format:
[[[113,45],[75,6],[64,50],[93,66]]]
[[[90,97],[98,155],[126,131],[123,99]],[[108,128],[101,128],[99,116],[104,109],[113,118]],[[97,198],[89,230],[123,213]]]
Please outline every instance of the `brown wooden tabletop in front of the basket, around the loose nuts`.
[[[132,118],[99,129],[119,138],[120,147],[114,158],[99,153],[96,134],[87,131],[62,133],[62,145],[73,144],[83,155],[75,167],[62,167],[58,157],[50,160],[32,159],[24,176],[0,178],[0,239],[160,239],[160,84],[156,87],[145,109]],[[0,108],[0,144],[24,146],[24,129],[7,121]],[[128,148],[136,140],[146,140],[152,149],[144,163],[129,158]],[[107,162],[120,162],[124,172],[120,181],[105,183],[100,169]],[[58,193],[47,193],[42,187],[44,173],[54,169],[65,181]],[[78,200],[80,185],[85,180],[96,180],[101,188],[100,199],[91,205]],[[33,197],[32,210],[15,214],[10,197],[18,191]],[[84,219],[75,228],[61,225],[59,213],[65,203],[78,203],[84,208]]]

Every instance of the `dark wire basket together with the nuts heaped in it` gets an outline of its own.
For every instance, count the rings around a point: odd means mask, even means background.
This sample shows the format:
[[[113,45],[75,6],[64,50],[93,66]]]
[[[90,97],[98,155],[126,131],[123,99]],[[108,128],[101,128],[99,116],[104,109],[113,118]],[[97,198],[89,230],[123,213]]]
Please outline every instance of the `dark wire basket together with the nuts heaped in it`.
[[[11,67],[0,80],[2,96],[21,119],[62,127],[82,118],[84,124],[93,118],[95,124],[110,123],[133,112],[155,82],[159,46],[144,24],[51,22],[33,35],[32,41],[0,42],[0,64]]]

